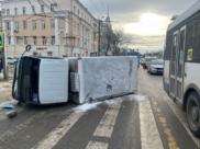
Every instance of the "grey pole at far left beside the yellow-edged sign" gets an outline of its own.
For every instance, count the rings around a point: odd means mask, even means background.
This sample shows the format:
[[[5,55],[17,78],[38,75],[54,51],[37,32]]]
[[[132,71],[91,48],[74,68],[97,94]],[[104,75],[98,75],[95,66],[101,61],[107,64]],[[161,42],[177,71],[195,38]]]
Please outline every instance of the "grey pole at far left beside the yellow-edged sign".
[[[0,23],[1,23],[1,31],[0,32],[3,32],[3,20],[2,20],[2,9],[1,9],[1,5],[0,5]],[[4,35],[1,37],[1,44],[4,45]],[[3,66],[3,79],[5,80],[7,79],[7,65],[5,65],[5,57],[4,57],[4,46],[2,48],[2,66]]]

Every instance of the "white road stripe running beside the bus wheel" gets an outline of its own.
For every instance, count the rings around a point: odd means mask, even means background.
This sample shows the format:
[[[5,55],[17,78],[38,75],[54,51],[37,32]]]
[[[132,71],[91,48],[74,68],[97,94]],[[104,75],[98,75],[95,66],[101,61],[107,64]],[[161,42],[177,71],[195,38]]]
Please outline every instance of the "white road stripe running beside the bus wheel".
[[[191,139],[195,141],[195,144],[198,146],[198,148],[200,148],[200,140],[192,135],[192,133],[190,131],[190,129],[188,127],[186,113],[182,112],[182,110],[176,103],[174,103],[171,99],[164,98],[164,100],[169,105],[169,107],[171,108],[171,111],[174,112],[176,117],[179,119],[179,122],[182,124],[182,126],[187,130],[188,135],[191,137]]]

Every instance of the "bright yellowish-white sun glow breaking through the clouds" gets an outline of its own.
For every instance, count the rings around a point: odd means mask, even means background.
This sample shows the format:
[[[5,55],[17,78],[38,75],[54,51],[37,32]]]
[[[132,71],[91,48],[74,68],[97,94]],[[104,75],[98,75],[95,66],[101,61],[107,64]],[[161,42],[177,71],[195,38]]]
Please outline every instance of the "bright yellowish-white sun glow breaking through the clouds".
[[[160,35],[165,34],[167,24],[165,18],[154,13],[145,13],[141,15],[140,22],[125,25],[125,31],[129,30],[129,33],[131,31],[131,33],[138,35]]]

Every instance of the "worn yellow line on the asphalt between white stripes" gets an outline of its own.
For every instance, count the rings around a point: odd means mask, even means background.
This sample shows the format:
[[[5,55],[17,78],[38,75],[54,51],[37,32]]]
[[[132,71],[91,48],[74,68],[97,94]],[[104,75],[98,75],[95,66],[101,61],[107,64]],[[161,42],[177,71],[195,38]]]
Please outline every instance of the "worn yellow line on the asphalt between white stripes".
[[[152,101],[153,101],[153,106],[154,106],[154,108],[156,111],[156,115],[158,116],[159,122],[162,123],[162,126],[164,128],[164,133],[167,135],[169,149],[180,149],[178,147],[173,134],[171,134],[171,130],[167,126],[167,119],[162,116],[162,113],[160,113],[162,111],[158,107],[158,104],[157,104],[156,100],[152,98]]]

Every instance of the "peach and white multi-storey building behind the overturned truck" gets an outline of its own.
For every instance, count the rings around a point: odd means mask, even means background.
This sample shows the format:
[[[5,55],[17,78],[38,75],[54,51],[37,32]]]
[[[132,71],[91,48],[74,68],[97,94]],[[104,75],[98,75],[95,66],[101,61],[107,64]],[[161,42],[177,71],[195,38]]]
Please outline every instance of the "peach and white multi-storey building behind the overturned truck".
[[[2,24],[8,56],[84,57],[98,51],[98,21],[78,0],[4,0]]]

